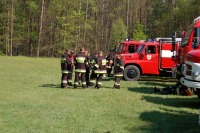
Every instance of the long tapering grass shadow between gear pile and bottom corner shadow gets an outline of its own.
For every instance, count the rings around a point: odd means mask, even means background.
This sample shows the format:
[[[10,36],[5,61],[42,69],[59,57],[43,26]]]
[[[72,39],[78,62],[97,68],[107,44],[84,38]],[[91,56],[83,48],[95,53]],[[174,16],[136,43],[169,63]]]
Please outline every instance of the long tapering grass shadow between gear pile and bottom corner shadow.
[[[186,107],[199,109],[200,100],[197,97],[182,96],[180,98],[164,98],[154,96],[143,96],[143,100],[154,104],[161,104],[172,107]]]

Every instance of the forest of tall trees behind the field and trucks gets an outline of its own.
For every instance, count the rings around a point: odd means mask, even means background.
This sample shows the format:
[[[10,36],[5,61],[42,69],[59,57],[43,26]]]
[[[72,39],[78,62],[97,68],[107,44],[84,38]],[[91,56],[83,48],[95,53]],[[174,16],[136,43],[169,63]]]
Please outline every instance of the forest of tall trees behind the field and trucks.
[[[109,52],[120,41],[171,37],[200,15],[199,0],[1,0],[0,55]]]

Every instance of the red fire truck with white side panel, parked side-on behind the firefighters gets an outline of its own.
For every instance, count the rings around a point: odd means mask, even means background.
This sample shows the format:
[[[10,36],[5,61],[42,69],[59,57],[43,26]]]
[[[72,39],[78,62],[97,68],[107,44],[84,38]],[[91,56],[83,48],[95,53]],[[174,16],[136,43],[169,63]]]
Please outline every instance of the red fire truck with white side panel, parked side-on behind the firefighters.
[[[161,72],[171,72],[175,60],[171,38],[157,38],[154,42],[129,42],[121,43],[117,53],[122,56],[125,63],[124,79],[135,81],[140,75],[160,75]],[[180,38],[179,38],[180,39]],[[178,40],[178,39],[177,39]],[[179,43],[176,43],[178,47]],[[130,52],[130,47],[134,47]],[[137,48],[138,46],[138,48]]]

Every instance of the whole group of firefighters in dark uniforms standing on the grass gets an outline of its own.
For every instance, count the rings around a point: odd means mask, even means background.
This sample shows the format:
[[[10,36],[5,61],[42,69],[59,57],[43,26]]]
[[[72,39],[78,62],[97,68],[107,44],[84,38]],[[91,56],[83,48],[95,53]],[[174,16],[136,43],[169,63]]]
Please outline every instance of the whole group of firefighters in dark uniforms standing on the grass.
[[[111,76],[111,71],[114,70],[113,76],[115,82],[113,88],[120,89],[120,80],[123,77],[124,62],[121,56],[113,54],[104,56],[102,51],[90,56],[90,53],[85,48],[80,48],[80,51],[75,54],[72,50],[66,50],[61,56],[61,88],[74,88],[82,85],[82,88],[101,88],[102,78],[107,75]],[[75,72],[74,84],[72,83],[72,75]]]

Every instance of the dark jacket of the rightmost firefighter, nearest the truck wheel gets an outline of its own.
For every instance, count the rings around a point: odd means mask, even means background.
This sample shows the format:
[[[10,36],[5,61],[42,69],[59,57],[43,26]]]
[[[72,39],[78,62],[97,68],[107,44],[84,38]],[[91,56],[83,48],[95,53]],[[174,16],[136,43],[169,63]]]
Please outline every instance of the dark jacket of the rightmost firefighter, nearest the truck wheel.
[[[117,59],[114,67],[114,76],[123,77],[124,72],[124,62],[122,59]]]

